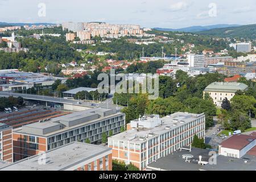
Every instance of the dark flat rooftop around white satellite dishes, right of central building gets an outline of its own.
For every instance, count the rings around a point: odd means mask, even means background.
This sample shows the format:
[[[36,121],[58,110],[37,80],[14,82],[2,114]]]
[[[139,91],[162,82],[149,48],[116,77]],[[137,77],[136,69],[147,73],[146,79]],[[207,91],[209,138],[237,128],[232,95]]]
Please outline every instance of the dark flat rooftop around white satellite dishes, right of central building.
[[[192,158],[189,159],[191,162],[185,162],[186,159],[183,159],[183,155],[192,155]],[[191,148],[191,152],[177,150],[170,155],[156,160],[156,162],[148,164],[148,167],[167,171],[198,171],[202,167],[198,164],[199,156],[202,156],[202,161],[208,162],[210,158],[209,150],[193,147]]]

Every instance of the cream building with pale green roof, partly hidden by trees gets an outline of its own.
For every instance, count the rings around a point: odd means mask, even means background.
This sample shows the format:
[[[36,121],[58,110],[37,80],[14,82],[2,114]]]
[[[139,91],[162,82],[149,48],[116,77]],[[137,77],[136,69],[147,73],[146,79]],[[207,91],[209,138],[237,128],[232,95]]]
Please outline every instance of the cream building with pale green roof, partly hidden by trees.
[[[209,93],[209,96],[212,97],[213,102],[217,106],[221,106],[222,101],[225,98],[228,98],[230,101],[237,90],[245,91],[248,89],[248,86],[243,83],[238,82],[213,82],[212,84],[208,85],[204,89],[204,96],[205,93]]]

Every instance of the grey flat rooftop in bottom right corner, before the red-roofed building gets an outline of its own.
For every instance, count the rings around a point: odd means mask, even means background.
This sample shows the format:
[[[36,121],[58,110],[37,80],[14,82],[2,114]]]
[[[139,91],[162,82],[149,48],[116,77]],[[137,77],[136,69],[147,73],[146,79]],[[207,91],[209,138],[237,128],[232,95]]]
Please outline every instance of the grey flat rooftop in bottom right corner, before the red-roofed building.
[[[244,155],[241,159],[218,155],[216,165],[206,164],[203,171],[255,171],[256,158],[253,155]]]

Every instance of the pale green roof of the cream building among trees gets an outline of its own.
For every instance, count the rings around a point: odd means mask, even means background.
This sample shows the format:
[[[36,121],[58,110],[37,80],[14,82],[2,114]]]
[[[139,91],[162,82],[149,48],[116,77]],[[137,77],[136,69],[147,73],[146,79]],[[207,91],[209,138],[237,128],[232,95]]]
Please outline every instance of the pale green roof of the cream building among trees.
[[[204,89],[204,92],[237,92],[246,90],[247,85],[238,82],[213,82]]]

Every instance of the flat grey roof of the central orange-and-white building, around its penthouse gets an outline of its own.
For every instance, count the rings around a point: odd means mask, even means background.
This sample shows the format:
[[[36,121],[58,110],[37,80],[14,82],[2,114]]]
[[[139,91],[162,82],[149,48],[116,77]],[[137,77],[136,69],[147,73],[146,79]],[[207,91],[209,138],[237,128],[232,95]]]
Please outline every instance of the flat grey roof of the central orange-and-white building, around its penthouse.
[[[135,143],[143,143],[144,140],[154,138],[155,135],[166,133],[168,130],[174,130],[177,127],[183,126],[186,123],[195,121],[195,119],[203,117],[204,114],[192,114],[192,113],[181,113],[177,112],[166,117],[160,118],[162,125],[158,125],[153,128],[139,128],[139,130],[133,128],[123,133],[113,135],[111,139],[118,140],[130,140]],[[148,122],[152,122],[151,118],[147,118]],[[153,134],[153,135],[151,135]]]

